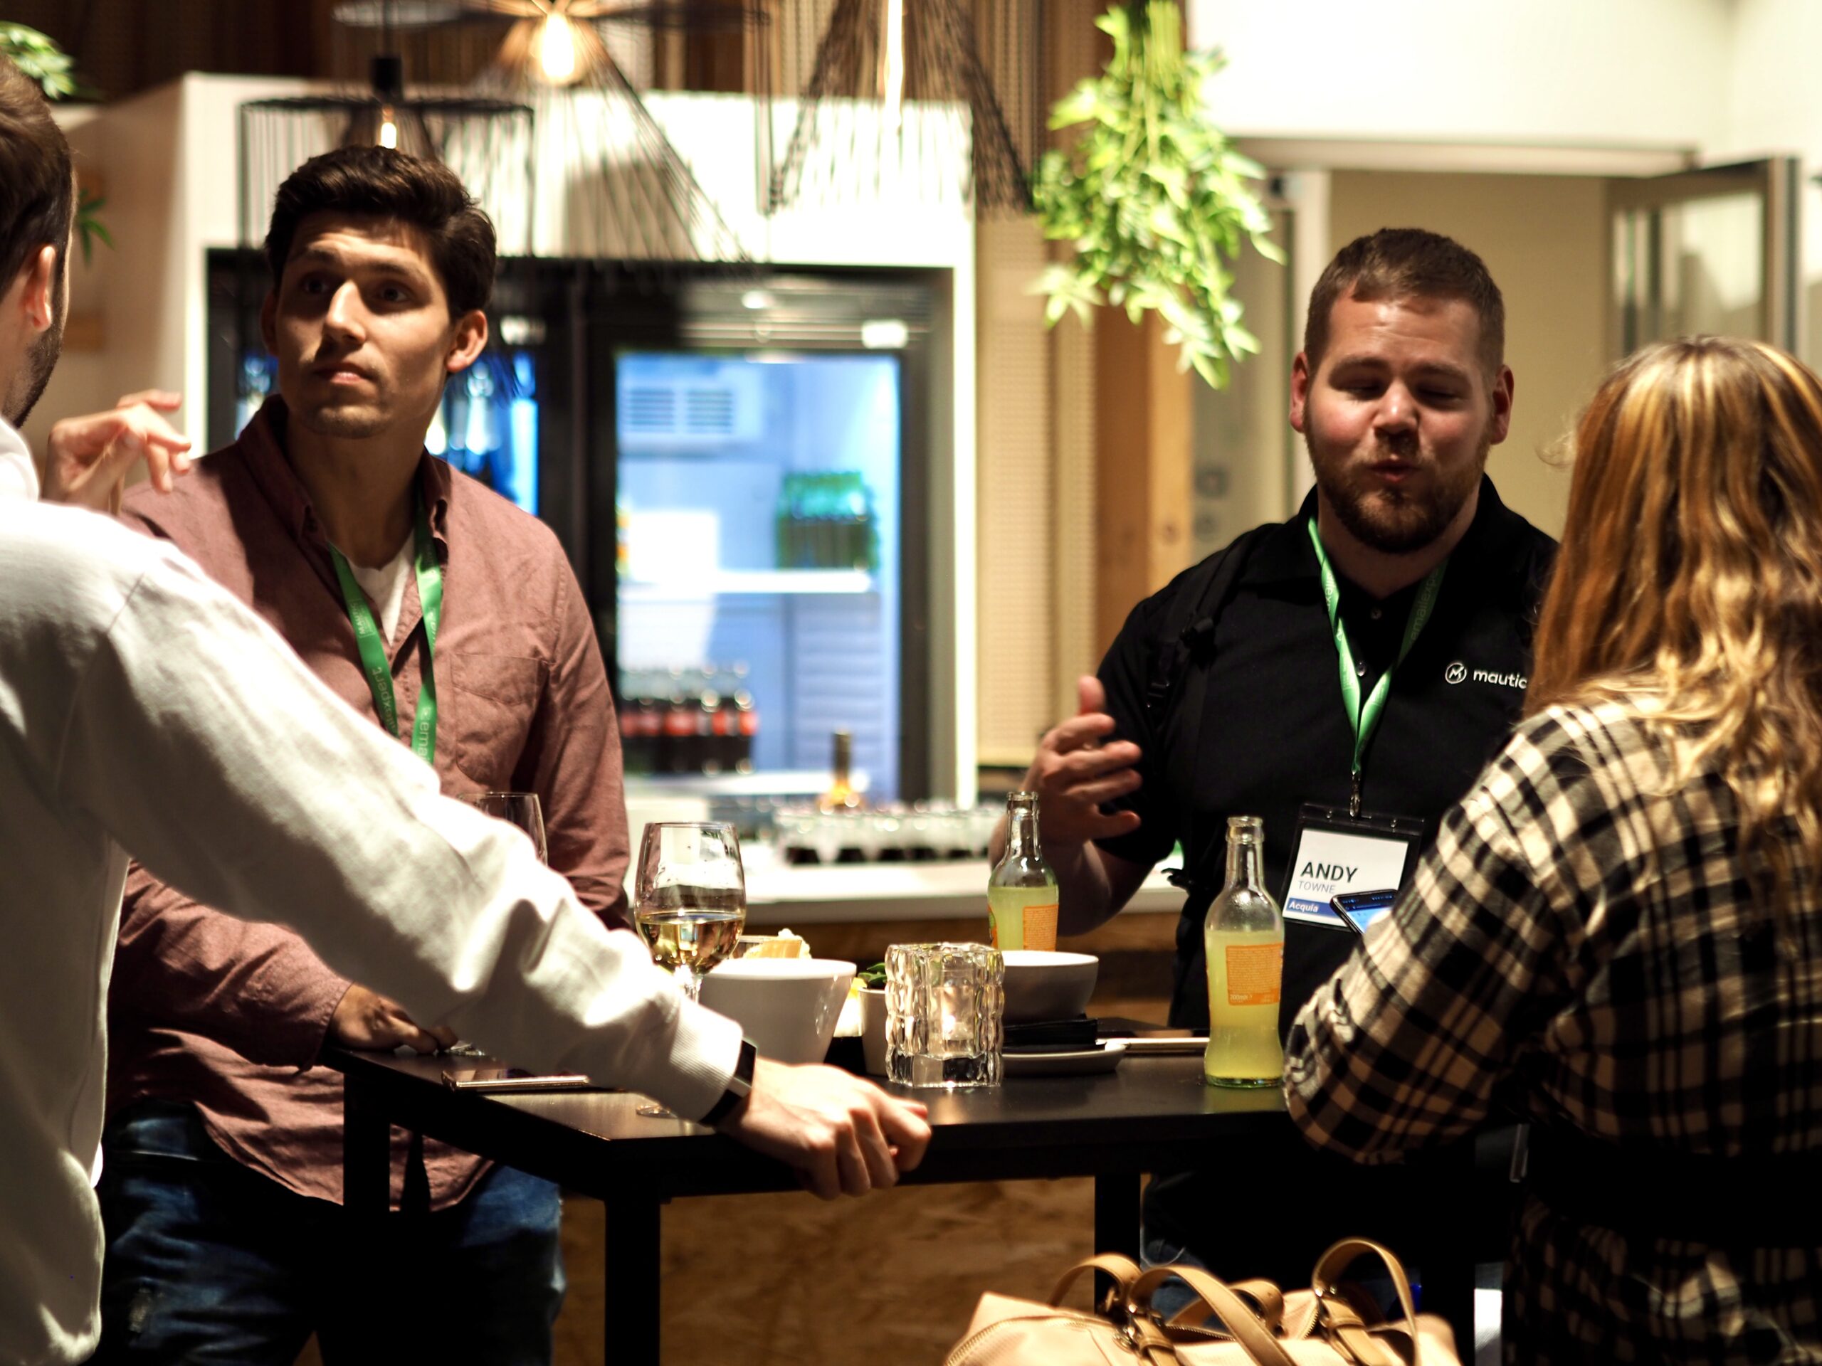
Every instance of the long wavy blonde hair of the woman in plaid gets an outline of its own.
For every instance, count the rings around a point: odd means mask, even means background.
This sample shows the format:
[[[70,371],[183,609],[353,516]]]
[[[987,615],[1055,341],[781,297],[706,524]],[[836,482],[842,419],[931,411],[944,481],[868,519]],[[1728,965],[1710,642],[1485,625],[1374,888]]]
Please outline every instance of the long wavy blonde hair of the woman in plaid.
[[[1609,375],[1574,446],[1525,712],[1620,701],[1676,787],[1716,763],[1787,929],[1793,851],[1767,832],[1793,821],[1822,869],[1822,381],[1753,341],[1663,342]]]

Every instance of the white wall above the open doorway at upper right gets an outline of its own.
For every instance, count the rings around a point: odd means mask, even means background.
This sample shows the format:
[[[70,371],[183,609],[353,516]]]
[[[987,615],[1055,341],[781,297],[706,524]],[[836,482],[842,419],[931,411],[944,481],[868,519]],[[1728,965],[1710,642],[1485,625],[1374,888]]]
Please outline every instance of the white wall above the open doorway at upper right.
[[[1184,4],[1237,135],[1709,146],[1727,122],[1729,0]]]

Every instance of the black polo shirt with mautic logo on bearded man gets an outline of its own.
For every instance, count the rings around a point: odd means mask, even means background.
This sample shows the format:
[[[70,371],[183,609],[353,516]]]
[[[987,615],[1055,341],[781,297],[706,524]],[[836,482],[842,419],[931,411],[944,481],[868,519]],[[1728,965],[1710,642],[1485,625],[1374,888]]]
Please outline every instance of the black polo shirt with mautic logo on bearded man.
[[[1182,683],[1155,725],[1144,699],[1162,636],[1172,623],[1182,625],[1175,596],[1195,592],[1206,576],[1177,576],[1128,616],[1100,663],[1100,681],[1119,736],[1142,750],[1142,787],[1113,805],[1137,810],[1142,823],[1102,840],[1110,854],[1150,867],[1181,840],[1186,860],[1193,861],[1199,847],[1206,851],[1199,878],[1219,887],[1226,818],[1261,816],[1266,889],[1279,896],[1299,807],[1346,807],[1354,729],[1306,530],[1314,515],[1312,492],[1292,521],[1261,534],[1215,621],[1212,658],[1188,665],[1208,670],[1195,752],[1188,752],[1184,718],[1175,714]],[[1509,510],[1483,477],[1474,521],[1448,557],[1430,619],[1392,674],[1363,758],[1363,810],[1421,816],[1427,840],[1434,840],[1441,814],[1500,752],[1525,701],[1530,632],[1554,550],[1556,543]],[[1337,581],[1365,698],[1397,659],[1416,586],[1376,603],[1339,574]],[[1192,898],[1177,927],[1172,1022],[1179,1025],[1208,1025],[1204,907]],[[1297,927],[1288,936],[1286,1024],[1350,947],[1352,936],[1339,929]]]

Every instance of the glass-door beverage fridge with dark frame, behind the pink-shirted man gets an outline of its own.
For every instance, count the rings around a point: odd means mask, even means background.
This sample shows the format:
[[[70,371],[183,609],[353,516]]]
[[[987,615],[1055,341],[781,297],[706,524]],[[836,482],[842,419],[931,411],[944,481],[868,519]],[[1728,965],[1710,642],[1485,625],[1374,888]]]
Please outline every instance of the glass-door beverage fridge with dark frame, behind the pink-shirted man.
[[[545,519],[589,596],[629,776],[805,796],[853,736],[931,796],[937,271],[501,262],[430,448]],[[210,444],[273,384],[264,277],[211,253]],[[935,421],[933,421],[935,419]]]

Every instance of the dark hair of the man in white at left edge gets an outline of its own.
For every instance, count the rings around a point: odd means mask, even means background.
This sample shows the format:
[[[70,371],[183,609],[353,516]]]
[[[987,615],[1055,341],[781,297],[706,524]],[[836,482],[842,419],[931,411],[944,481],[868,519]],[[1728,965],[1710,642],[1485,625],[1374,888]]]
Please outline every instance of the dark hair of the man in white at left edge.
[[[0,291],[47,246],[62,262],[75,211],[69,140],[38,84],[0,56]],[[62,279],[58,270],[58,291]]]

